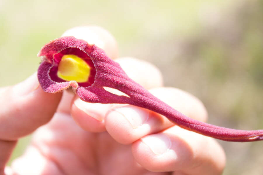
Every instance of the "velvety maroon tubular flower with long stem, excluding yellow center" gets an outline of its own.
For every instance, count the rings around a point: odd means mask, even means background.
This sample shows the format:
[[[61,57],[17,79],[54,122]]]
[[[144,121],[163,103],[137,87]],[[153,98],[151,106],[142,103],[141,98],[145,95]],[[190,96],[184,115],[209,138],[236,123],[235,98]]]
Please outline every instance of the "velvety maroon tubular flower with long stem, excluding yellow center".
[[[57,67],[63,55],[77,55],[91,68],[86,82],[65,81],[57,76]],[[105,52],[95,45],[65,36],[47,43],[38,56],[42,63],[38,69],[38,79],[45,92],[56,93],[72,87],[80,99],[91,103],[131,104],[160,113],[176,125],[206,136],[225,141],[248,142],[263,140],[263,130],[236,130],[210,125],[192,118],[170,107],[156,98],[141,85],[131,80],[120,65],[111,60]],[[124,95],[115,95],[103,87],[117,89]]]

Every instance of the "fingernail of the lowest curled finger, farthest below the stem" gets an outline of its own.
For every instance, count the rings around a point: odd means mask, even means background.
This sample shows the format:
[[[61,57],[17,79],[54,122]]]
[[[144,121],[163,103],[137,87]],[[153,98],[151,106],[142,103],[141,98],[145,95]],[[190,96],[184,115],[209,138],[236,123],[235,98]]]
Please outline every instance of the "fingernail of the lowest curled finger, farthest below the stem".
[[[171,148],[171,140],[165,134],[152,134],[141,138],[143,143],[145,143],[156,155],[165,153]]]

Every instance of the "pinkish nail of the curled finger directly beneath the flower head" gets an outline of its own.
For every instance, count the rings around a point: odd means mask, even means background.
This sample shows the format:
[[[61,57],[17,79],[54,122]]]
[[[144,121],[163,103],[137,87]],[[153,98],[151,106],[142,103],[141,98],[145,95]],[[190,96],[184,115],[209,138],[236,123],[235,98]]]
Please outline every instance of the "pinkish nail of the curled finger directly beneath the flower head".
[[[111,104],[87,103],[79,98],[74,101],[74,104],[87,115],[99,121],[104,120],[105,114],[112,106]]]

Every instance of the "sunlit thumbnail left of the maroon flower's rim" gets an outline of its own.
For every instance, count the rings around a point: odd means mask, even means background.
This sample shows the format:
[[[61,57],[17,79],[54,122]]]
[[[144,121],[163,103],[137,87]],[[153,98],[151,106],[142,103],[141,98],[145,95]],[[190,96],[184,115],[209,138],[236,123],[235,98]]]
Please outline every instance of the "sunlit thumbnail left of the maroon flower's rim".
[[[13,93],[16,95],[27,95],[39,87],[37,73],[32,74],[26,80],[13,86]]]

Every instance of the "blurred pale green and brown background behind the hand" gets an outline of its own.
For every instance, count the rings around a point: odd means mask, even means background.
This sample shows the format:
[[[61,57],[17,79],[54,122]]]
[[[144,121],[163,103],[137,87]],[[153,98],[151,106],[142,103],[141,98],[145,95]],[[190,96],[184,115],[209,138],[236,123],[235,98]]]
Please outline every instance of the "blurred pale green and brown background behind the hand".
[[[155,64],[165,85],[204,102],[209,123],[263,128],[263,1],[0,0],[0,86],[34,73],[39,49],[65,30],[87,24],[115,36],[120,56]],[[19,141],[12,159],[30,137]],[[263,172],[263,142],[219,141],[224,175]]]

